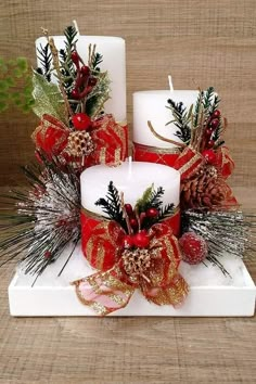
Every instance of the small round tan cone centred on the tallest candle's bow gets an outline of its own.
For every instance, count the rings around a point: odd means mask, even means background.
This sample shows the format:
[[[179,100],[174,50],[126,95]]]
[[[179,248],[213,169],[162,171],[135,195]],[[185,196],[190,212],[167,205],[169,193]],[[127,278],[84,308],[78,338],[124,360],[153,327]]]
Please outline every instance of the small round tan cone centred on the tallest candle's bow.
[[[75,157],[89,155],[94,149],[93,141],[87,131],[74,131],[68,136],[66,151]]]

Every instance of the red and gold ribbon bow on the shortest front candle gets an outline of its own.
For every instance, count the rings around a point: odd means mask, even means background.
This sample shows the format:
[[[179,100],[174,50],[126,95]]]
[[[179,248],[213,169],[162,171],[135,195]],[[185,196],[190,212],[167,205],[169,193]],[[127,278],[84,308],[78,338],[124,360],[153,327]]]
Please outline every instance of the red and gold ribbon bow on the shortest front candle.
[[[89,263],[100,269],[73,283],[84,304],[105,316],[124,308],[136,289],[157,305],[178,305],[185,298],[188,284],[178,273],[181,256],[168,219],[150,229],[149,247],[128,251],[121,245],[125,231],[118,223],[99,221],[85,213],[81,218],[81,231],[90,232],[82,240],[82,249]],[[142,263],[140,273],[127,268],[138,257]]]

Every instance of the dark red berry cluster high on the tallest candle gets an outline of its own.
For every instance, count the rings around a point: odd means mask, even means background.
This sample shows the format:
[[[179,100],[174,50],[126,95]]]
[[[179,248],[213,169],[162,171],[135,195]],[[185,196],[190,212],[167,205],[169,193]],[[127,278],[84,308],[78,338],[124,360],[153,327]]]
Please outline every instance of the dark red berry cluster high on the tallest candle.
[[[77,76],[74,89],[71,92],[71,97],[74,100],[85,99],[97,85],[97,78],[92,76],[89,66],[82,63],[81,57],[77,53],[77,51],[73,51],[71,59],[76,66]],[[80,64],[82,64],[80,66]]]

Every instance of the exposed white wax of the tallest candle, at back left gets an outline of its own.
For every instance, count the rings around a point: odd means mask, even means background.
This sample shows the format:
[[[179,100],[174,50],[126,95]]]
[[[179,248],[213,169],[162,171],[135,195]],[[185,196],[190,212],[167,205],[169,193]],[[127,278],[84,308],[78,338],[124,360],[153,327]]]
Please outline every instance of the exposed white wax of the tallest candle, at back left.
[[[56,49],[64,49],[64,36],[52,36]],[[88,62],[89,44],[97,44],[97,52],[103,55],[99,65],[101,71],[107,71],[111,79],[111,99],[105,103],[105,112],[112,113],[117,121],[126,120],[126,48],[125,40],[120,37],[110,36],[78,36],[77,52]],[[46,37],[36,40],[36,48],[44,47]],[[40,66],[40,62],[37,62]]]

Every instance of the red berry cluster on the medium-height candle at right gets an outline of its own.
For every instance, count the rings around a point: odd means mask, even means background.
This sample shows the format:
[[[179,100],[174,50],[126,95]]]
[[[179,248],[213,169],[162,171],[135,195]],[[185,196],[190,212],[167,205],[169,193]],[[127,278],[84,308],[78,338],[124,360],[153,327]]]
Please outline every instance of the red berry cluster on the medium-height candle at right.
[[[214,132],[219,127],[219,125],[220,125],[220,112],[219,110],[216,110],[210,115],[207,127],[205,129],[205,133],[204,133],[205,149],[202,152],[202,155],[205,157],[207,163],[213,165],[216,162],[216,153],[213,149],[215,145]]]

